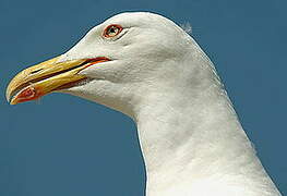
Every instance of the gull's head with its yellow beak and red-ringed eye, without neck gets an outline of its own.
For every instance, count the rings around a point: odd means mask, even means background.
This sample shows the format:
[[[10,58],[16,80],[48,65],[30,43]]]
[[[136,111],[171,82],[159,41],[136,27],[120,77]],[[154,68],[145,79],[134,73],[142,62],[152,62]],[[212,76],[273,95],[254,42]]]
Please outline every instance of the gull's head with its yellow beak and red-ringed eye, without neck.
[[[93,27],[68,52],[20,72],[7,99],[16,105],[60,91],[130,114],[135,101],[171,79],[190,40],[158,14],[121,13]]]

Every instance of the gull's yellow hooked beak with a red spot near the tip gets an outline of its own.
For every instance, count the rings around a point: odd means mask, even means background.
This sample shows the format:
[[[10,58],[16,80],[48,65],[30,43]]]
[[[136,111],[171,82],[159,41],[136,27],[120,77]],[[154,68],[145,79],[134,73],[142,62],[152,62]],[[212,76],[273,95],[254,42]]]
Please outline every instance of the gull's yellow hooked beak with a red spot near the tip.
[[[77,74],[80,71],[109,60],[100,57],[58,62],[59,59],[60,57],[57,57],[20,72],[8,85],[7,100],[11,105],[16,105],[75,86],[86,78]]]

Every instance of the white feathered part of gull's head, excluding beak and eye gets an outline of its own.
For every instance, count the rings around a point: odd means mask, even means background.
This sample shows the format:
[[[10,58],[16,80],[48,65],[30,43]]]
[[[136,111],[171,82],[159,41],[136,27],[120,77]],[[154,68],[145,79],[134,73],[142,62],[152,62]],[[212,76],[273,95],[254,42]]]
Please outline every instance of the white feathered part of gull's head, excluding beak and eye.
[[[103,36],[110,25],[122,30],[115,37]],[[80,72],[88,83],[65,91],[95,100],[130,114],[158,79],[167,76],[167,66],[187,52],[190,36],[174,22],[153,13],[122,13],[95,26],[60,61],[106,57],[111,61]],[[175,63],[172,65],[176,66]]]

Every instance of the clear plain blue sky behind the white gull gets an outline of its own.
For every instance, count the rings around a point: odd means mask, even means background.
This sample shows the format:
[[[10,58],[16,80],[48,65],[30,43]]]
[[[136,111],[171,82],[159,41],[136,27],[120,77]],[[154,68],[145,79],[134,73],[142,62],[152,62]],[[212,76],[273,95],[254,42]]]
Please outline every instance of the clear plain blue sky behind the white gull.
[[[0,195],[143,195],[143,160],[128,117],[61,94],[17,106],[4,99],[20,70],[67,51],[124,11],[192,24],[265,169],[287,194],[286,10],[284,0],[1,0]]]

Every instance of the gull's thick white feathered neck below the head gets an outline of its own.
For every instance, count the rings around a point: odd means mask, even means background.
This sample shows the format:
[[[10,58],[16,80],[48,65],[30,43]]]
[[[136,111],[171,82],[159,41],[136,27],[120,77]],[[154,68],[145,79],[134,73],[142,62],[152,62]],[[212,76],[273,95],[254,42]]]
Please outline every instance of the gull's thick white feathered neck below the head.
[[[208,63],[192,82],[159,84],[135,112],[146,195],[279,195]]]

